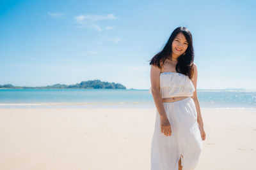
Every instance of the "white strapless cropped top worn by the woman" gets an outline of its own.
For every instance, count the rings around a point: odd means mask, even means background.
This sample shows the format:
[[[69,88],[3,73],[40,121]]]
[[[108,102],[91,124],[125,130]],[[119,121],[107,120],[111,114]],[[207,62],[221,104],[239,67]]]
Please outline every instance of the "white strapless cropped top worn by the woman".
[[[195,87],[189,76],[177,72],[160,73],[160,94],[162,98],[192,97]],[[152,93],[151,87],[148,93]]]

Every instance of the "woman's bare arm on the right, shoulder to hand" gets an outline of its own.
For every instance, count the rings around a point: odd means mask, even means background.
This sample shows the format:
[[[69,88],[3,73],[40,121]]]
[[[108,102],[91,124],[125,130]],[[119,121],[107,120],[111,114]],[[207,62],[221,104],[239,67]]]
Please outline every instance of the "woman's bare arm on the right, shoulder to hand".
[[[193,93],[193,101],[195,102],[195,106],[196,106],[196,112],[197,112],[197,123],[201,132],[201,136],[202,139],[205,140],[205,132],[204,132],[204,122],[202,119],[202,115],[201,115],[201,110],[200,110],[200,104],[197,98],[197,93],[196,93],[196,83],[197,83],[197,76],[198,76],[198,72],[197,72],[197,67],[196,64],[194,63],[194,74],[193,74],[193,78],[191,79],[193,82],[193,85],[195,87],[195,92]]]

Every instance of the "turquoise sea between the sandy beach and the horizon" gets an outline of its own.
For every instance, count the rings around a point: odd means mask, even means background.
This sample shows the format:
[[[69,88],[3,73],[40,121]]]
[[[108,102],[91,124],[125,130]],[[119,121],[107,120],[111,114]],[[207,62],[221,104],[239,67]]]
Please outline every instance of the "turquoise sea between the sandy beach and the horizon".
[[[256,91],[198,90],[201,108],[256,109]],[[126,89],[1,89],[0,108],[35,107],[154,108],[148,90]]]

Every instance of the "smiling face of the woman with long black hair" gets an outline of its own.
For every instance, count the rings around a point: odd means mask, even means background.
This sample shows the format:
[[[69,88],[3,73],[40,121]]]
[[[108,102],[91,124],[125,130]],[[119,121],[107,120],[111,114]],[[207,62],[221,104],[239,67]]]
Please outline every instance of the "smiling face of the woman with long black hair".
[[[180,32],[172,41],[172,55],[179,57],[184,52],[186,52],[187,48],[188,48],[187,39],[185,38],[184,34]]]

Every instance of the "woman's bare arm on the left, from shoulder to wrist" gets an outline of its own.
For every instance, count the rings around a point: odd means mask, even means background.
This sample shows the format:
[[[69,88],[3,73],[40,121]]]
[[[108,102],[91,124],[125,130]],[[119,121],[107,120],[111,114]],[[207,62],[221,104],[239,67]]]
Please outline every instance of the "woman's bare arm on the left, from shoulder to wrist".
[[[154,98],[154,103],[156,104],[156,108],[159,113],[159,116],[166,117],[166,112],[163,106],[163,99],[160,94],[160,82],[159,82],[160,73],[161,73],[161,69],[159,69],[159,67],[151,65],[150,81],[151,81],[151,89],[152,89],[152,96]]]

